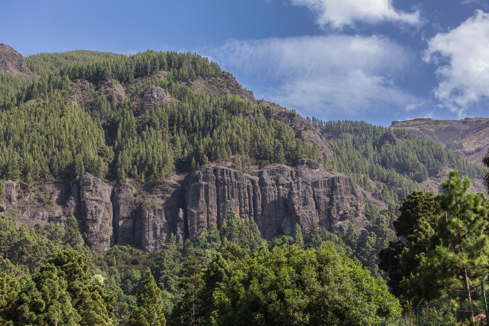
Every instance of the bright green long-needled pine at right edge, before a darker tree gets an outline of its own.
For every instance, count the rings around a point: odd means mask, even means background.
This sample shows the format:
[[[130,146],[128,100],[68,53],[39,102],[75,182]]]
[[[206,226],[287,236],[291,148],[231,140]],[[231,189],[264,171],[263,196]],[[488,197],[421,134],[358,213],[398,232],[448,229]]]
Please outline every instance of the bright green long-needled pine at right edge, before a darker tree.
[[[487,273],[489,262],[488,207],[482,193],[471,193],[470,180],[451,170],[442,183],[440,218],[430,238],[424,274],[425,293],[468,289]],[[455,276],[455,277],[454,277]],[[457,277],[458,276],[458,277]]]

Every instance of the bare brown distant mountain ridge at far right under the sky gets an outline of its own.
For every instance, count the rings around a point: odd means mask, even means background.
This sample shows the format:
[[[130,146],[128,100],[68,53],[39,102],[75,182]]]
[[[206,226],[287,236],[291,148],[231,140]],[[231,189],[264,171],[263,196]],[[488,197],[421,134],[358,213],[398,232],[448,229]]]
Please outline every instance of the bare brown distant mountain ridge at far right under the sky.
[[[489,118],[465,118],[464,120],[420,118],[393,121],[390,127],[403,128],[426,137],[467,157],[474,163],[481,164],[489,148]]]

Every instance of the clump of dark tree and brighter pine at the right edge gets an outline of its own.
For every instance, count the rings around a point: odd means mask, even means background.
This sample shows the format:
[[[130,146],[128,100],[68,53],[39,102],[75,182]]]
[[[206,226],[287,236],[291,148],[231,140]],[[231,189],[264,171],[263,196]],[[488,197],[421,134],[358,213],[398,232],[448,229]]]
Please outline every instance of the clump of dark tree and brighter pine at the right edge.
[[[406,197],[394,222],[397,236],[379,254],[393,293],[411,308],[420,298],[449,296],[480,283],[488,272],[489,199],[451,170],[444,193]]]

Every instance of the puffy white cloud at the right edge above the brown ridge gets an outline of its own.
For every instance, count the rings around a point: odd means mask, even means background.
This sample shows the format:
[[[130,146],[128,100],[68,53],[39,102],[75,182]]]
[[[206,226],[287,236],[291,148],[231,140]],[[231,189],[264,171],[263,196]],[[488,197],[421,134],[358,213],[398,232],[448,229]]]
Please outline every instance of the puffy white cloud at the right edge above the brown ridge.
[[[477,10],[457,28],[437,34],[423,59],[439,65],[435,97],[462,118],[489,96],[489,14]]]

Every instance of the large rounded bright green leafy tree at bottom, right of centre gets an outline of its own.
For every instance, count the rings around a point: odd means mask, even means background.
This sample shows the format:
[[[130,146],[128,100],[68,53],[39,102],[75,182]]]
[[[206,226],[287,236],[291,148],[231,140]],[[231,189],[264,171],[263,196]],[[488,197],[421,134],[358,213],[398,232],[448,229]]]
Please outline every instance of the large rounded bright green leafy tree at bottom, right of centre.
[[[333,246],[276,247],[217,297],[218,325],[380,325],[400,312],[380,279]]]

